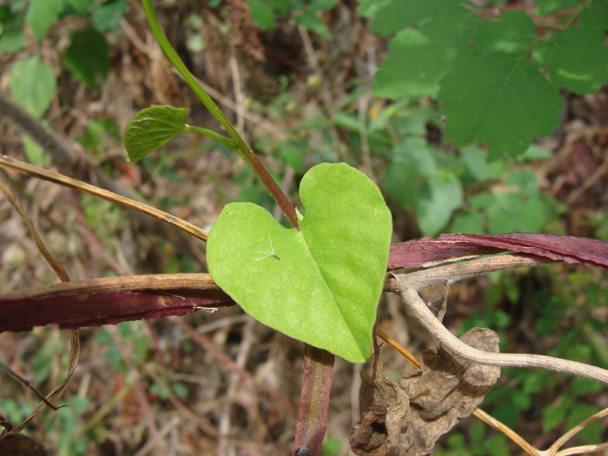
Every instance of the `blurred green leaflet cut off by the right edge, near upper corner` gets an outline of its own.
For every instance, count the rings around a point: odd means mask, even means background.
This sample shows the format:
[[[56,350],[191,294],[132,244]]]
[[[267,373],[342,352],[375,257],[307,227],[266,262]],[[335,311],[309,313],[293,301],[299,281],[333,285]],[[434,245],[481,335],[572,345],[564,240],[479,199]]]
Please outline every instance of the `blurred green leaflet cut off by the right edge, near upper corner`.
[[[591,94],[608,79],[605,40],[606,33],[596,27],[568,27],[537,44],[533,58],[547,68],[554,86]]]

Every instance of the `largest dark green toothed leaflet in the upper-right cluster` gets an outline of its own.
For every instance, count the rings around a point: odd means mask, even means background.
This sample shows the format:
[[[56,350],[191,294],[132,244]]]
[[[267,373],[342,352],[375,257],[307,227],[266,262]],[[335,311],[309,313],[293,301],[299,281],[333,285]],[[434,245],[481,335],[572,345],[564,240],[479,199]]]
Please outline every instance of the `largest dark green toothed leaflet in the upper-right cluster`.
[[[441,81],[444,135],[456,147],[485,142],[490,159],[525,152],[533,136],[559,125],[564,100],[522,54],[482,54]]]

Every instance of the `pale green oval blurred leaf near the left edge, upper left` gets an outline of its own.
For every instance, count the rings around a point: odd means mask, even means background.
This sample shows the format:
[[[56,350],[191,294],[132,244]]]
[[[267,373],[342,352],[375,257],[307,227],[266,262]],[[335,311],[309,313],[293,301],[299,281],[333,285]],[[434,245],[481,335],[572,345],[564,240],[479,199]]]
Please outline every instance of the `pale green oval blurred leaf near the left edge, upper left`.
[[[10,69],[10,94],[33,117],[42,117],[49,108],[56,86],[53,70],[38,56],[19,61]]]

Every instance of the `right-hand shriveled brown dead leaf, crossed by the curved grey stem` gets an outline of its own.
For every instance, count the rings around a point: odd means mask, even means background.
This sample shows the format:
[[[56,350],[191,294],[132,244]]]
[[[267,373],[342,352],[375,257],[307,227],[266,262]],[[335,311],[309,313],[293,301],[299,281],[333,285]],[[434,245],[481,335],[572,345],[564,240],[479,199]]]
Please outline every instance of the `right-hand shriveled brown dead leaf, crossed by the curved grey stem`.
[[[479,350],[499,352],[498,336],[487,328],[472,328],[460,339]],[[499,367],[471,362],[443,348],[423,351],[420,369],[402,374],[400,383],[410,398],[410,426],[425,451],[477,408],[499,376]]]

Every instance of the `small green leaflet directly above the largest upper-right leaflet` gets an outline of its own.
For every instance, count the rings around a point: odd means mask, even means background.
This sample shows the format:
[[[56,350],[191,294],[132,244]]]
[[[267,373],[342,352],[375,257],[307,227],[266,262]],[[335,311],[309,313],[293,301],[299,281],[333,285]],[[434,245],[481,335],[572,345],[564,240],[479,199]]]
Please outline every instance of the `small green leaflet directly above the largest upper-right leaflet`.
[[[538,38],[536,26],[523,11],[505,11],[500,21],[483,21],[475,35],[475,49],[481,52],[524,52]]]

